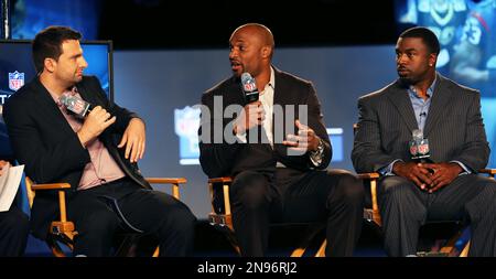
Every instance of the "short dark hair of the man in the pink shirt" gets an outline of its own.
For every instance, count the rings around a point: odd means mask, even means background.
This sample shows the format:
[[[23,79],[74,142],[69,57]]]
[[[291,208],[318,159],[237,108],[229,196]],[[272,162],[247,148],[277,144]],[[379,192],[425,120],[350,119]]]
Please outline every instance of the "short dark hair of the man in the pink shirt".
[[[82,34],[66,26],[48,26],[36,34],[33,41],[33,61],[37,73],[42,73],[45,58],[58,61],[62,44],[67,40],[80,40]]]

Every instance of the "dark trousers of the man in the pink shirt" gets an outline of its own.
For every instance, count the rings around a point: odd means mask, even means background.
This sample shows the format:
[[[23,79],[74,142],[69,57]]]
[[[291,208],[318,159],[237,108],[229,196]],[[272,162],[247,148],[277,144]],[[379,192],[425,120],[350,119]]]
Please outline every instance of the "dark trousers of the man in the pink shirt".
[[[160,256],[187,256],[193,249],[196,218],[190,208],[130,179],[79,191],[67,206],[68,218],[78,232],[74,255],[110,256],[119,232],[154,236]]]

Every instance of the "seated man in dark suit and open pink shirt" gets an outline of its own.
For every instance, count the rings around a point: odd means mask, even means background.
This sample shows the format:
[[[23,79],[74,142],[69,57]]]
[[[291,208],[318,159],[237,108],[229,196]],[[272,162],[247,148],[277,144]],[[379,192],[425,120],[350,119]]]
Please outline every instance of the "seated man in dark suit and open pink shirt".
[[[39,76],[3,109],[14,154],[35,182],[71,184],[67,214],[78,232],[74,255],[108,256],[115,233],[127,230],[158,238],[161,256],[185,256],[195,217],[140,174],[144,122],[109,101],[96,77],[83,75],[87,63],[79,39],[64,26],[50,26],[34,39]],[[80,97],[95,107],[80,118],[61,96]],[[36,237],[47,236],[56,206],[55,193],[36,194],[31,213]]]

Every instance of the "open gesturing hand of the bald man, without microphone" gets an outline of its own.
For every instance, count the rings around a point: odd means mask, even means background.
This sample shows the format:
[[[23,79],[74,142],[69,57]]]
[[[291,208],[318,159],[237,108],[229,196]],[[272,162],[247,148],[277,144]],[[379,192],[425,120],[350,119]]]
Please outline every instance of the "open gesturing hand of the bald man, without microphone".
[[[315,131],[309,126],[302,125],[300,120],[295,121],[298,127],[298,136],[288,135],[287,140],[282,144],[290,147],[289,149],[306,153],[306,151],[316,151],[319,148],[320,138]]]

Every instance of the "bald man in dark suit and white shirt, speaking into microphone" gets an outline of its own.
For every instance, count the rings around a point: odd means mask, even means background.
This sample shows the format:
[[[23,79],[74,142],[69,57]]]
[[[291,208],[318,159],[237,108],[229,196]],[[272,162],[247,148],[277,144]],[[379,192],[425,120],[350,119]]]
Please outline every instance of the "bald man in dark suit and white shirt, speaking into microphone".
[[[229,44],[233,77],[202,97],[200,161],[209,178],[234,178],[229,195],[241,254],[266,255],[272,222],[325,222],[326,255],[352,256],[363,187],[346,171],[324,170],[332,149],[313,85],[271,65],[274,42],[261,24],[239,26]],[[241,89],[245,72],[260,92],[250,104]],[[236,117],[223,118],[229,111]]]

